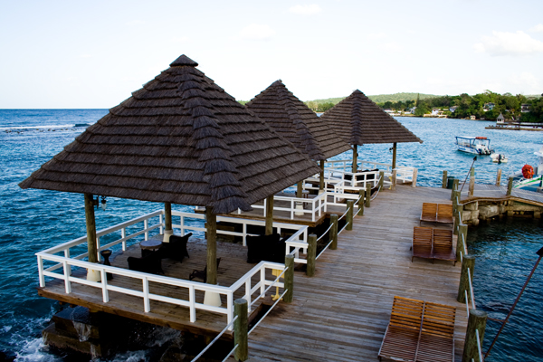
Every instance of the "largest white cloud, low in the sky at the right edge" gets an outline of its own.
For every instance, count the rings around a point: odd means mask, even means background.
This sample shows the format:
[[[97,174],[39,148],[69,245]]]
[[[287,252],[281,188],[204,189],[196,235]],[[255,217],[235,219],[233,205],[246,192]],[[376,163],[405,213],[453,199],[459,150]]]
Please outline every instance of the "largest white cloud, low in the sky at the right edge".
[[[483,36],[481,43],[473,44],[473,48],[476,52],[487,52],[491,56],[531,55],[543,52],[543,42],[521,31],[517,33],[493,31],[492,36]]]

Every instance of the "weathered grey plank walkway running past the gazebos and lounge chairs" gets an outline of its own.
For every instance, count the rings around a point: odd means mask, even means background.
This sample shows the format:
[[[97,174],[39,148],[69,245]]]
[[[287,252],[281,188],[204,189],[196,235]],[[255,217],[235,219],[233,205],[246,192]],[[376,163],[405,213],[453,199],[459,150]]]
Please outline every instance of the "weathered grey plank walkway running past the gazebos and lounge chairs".
[[[450,203],[450,195],[411,186],[379,194],[339,235],[338,249],[322,254],[314,277],[295,273],[293,302],[279,303],[249,336],[251,360],[376,361],[395,295],[455,306],[455,359],[462,360],[460,263],[411,262],[409,250],[423,202]]]

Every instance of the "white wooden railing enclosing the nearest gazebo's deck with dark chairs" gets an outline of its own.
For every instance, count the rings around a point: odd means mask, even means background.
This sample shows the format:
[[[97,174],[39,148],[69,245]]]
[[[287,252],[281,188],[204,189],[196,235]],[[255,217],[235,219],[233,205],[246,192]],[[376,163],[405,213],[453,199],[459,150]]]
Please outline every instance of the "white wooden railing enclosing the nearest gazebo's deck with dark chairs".
[[[133,240],[139,235],[144,234],[146,240],[148,239],[148,233],[152,230],[155,230],[157,228],[164,227],[164,224],[162,223],[163,218],[159,217],[158,223],[149,225],[149,221],[151,218],[157,217],[164,214],[163,210],[146,214],[143,216],[140,216],[138,218],[132,219],[129,222],[118,224],[115,226],[112,226],[107,229],[100,230],[97,232],[97,241],[100,240],[100,237],[103,237],[110,233],[117,233],[120,231],[121,237],[111,243],[107,243],[105,245],[99,246],[99,250],[103,250],[106,248],[110,248],[112,246],[115,246],[119,243],[122,243],[123,251],[126,250],[127,242],[133,241],[136,243],[136,240]],[[185,234],[186,231],[202,231],[205,232],[205,227],[199,226],[199,225],[191,225],[187,224],[188,219],[196,219],[203,221],[205,219],[205,215],[203,214],[190,214],[190,213],[184,213],[184,212],[178,212],[178,211],[172,211],[172,218],[175,220],[176,217],[179,217],[179,224],[173,224],[174,229],[178,229],[181,231],[181,234]],[[143,222],[143,229],[139,230],[136,233],[131,233],[129,235],[126,234],[127,228],[132,225],[136,225]],[[230,231],[224,231],[224,230],[217,230],[217,234],[228,234],[228,235],[235,235],[235,236],[242,236],[243,237],[243,244],[245,245],[245,240],[247,235],[251,235],[251,233],[247,233],[247,226],[248,225],[258,225],[258,226],[264,226],[263,221],[256,221],[256,220],[249,220],[249,219],[242,219],[242,218],[233,218],[233,217],[227,217],[227,216],[217,216],[217,222],[228,222],[232,224],[243,224],[243,232],[230,232]],[[200,223],[202,224],[202,223]],[[281,233],[281,229],[289,229],[289,230],[296,230],[296,232],[287,240],[287,243],[292,244],[295,247],[304,248],[307,250],[307,236],[308,236],[308,227],[305,225],[295,225],[295,224],[281,224],[281,223],[273,223],[273,227],[276,227],[278,229],[278,233]],[[148,274],[145,272],[139,272],[139,271],[130,271],[128,269],[113,267],[113,266],[106,266],[95,262],[86,262],[82,260],[83,258],[88,256],[88,252],[83,252],[75,257],[70,256],[70,251],[73,248],[86,246],[87,243],[87,237],[83,236],[81,238],[72,240],[68,243],[62,243],[61,245],[49,248],[47,250],[44,250],[43,252],[37,252],[37,261],[38,261],[38,273],[39,273],[39,281],[40,281],[40,287],[44,288],[46,287],[46,280],[45,278],[52,278],[57,280],[64,281],[64,290],[66,293],[71,293],[71,284],[72,283],[78,283],[87,285],[89,287],[93,288],[99,288],[102,290],[102,300],[104,303],[107,303],[110,301],[110,291],[116,291],[122,294],[132,295],[136,297],[142,298],[143,302],[143,310],[144,312],[149,312],[151,310],[151,300],[157,300],[166,302],[169,304],[175,304],[178,306],[187,307],[190,309],[190,321],[195,322],[196,319],[196,310],[207,310],[214,313],[224,314],[227,317],[227,322],[230,324],[230,322],[233,319],[233,293],[245,288],[243,291],[243,298],[248,301],[249,308],[251,308],[254,301],[252,301],[252,295],[255,292],[259,292],[258,298],[263,298],[263,293],[266,290],[266,286],[276,285],[278,287],[283,288],[283,283],[279,282],[278,279],[276,280],[268,280],[266,279],[266,271],[268,270],[284,270],[285,266],[282,263],[277,262],[260,262],[257,265],[255,265],[251,271],[248,271],[241,277],[238,281],[234,282],[233,285],[230,287],[224,287],[219,285],[211,285],[211,284],[205,284],[202,282],[197,281],[186,281],[186,280],[180,280],[176,278],[171,278],[167,276],[160,276],[160,275],[154,275],[154,274]],[[59,255],[60,254],[60,255]],[[52,266],[45,267],[45,262],[53,262]],[[61,272],[58,272],[59,269],[61,269]],[[87,281],[85,278],[86,275],[84,273],[81,273],[81,277],[73,276],[72,268],[81,268],[87,271],[98,271],[100,272],[101,281]],[[55,272],[57,271],[57,272]],[[107,273],[113,274],[113,275],[119,275],[124,276],[127,278],[130,278],[131,280],[138,280],[141,284],[139,284],[141,287],[137,289],[130,289],[127,287],[120,287],[118,285],[115,285],[115,279],[113,281],[107,280]],[[258,281],[252,285],[252,277],[256,276],[258,278]],[[155,293],[151,293],[149,291],[149,282],[155,282],[158,284],[163,285],[172,285],[176,286],[177,288],[183,288],[186,289],[187,292],[187,298],[186,299],[179,299],[179,298],[172,298],[168,297],[166,295],[159,295]],[[214,307],[205,305],[203,303],[197,303],[195,300],[195,293],[196,291],[199,292],[214,292],[218,293],[219,295],[224,295],[226,298],[226,306],[225,307]]]

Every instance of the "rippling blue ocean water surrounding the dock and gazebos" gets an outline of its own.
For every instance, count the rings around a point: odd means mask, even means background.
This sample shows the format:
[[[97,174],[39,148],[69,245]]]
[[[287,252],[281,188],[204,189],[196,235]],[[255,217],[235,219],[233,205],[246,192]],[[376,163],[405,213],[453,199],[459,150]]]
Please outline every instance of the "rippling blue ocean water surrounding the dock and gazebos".
[[[53,300],[38,297],[34,253],[85,233],[83,196],[46,190],[22,190],[17,185],[59,153],[107,110],[0,110],[0,351],[19,361],[65,361],[43,346],[41,331],[59,310]],[[465,177],[472,155],[456,151],[454,136],[486,136],[491,147],[509,157],[497,165],[490,157],[475,163],[478,180],[493,182],[498,167],[503,177],[524,164],[535,165],[533,152],[543,136],[539,132],[484,129],[488,123],[463,119],[398,118],[424,140],[423,144],[398,144],[397,164],[419,168],[418,185],[440,186],[443,169],[449,176]],[[360,147],[359,157],[391,161],[392,145]],[[350,154],[335,157],[350,157]],[[108,198],[108,209],[96,213],[97,228],[118,224],[155,211],[162,205]],[[178,210],[188,206],[175,205]],[[525,276],[543,246],[541,223],[532,220],[481,225],[469,232],[470,251],[477,255],[475,293],[478,308],[493,318],[504,318]],[[537,271],[508,327],[494,347],[490,360],[541,360],[543,328],[541,291],[543,267]],[[485,345],[490,344],[497,323],[489,322]],[[157,332],[148,348],[167,343],[169,332]],[[114,357],[145,360],[148,348]],[[0,354],[0,360],[2,355]]]

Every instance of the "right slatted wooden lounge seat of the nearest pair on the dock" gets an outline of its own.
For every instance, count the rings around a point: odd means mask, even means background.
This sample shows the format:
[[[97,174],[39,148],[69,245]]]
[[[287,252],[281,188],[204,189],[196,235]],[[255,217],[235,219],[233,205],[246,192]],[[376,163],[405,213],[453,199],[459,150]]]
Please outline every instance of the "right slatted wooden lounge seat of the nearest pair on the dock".
[[[417,362],[454,362],[456,308],[427,301],[424,304]]]

